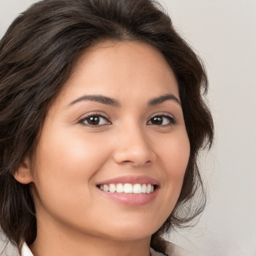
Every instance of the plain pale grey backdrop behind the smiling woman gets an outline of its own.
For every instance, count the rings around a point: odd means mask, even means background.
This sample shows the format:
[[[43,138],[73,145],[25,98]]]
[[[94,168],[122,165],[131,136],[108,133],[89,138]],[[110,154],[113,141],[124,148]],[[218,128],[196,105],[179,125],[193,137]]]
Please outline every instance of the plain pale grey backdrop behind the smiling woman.
[[[0,37],[35,0],[0,0]],[[208,202],[168,239],[196,256],[256,256],[256,0],[161,0],[205,62],[215,122],[201,157]]]

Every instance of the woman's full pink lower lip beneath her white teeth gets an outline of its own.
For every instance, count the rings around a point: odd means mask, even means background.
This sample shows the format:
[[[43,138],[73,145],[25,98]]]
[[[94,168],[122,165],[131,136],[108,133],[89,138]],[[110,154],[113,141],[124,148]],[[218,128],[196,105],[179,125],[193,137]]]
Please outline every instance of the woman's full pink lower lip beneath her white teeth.
[[[104,190],[98,189],[104,196],[109,199],[116,201],[121,204],[129,205],[129,206],[140,206],[147,204],[154,200],[157,194],[157,188],[151,193],[117,193],[117,192],[107,192]]]

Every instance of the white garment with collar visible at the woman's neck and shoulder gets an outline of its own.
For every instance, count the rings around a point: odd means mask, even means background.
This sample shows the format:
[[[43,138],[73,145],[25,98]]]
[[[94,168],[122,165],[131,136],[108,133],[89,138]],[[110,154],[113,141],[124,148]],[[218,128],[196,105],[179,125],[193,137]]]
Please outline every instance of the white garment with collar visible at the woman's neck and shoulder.
[[[152,248],[150,248],[150,253],[151,253],[151,256],[163,256],[164,255],[161,252],[153,250]],[[190,253],[188,253],[187,251],[183,250],[182,248],[180,248],[179,246],[177,246],[171,242],[167,242],[166,254],[168,256],[192,256]],[[28,248],[26,243],[23,243],[21,255],[22,256],[33,256],[31,250]]]

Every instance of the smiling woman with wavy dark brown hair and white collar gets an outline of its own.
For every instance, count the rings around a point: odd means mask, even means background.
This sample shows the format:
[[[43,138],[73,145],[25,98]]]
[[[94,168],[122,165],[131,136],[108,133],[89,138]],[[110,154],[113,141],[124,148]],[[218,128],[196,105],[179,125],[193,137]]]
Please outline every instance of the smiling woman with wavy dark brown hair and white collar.
[[[0,42],[7,239],[23,255],[188,255],[161,236],[205,204],[206,90],[156,2],[32,5]]]

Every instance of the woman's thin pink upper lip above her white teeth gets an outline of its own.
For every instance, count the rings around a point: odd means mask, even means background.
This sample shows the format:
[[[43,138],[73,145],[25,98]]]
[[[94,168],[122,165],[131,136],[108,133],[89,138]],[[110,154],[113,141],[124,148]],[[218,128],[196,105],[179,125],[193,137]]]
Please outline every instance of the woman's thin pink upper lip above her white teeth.
[[[151,185],[157,185],[158,184],[156,179],[151,178],[151,177],[146,176],[146,175],[139,175],[139,176],[125,175],[125,176],[119,176],[119,177],[103,180],[101,182],[98,182],[97,184],[99,185],[99,184],[117,184],[117,183],[130,183],[130,184],[150,183]]]

